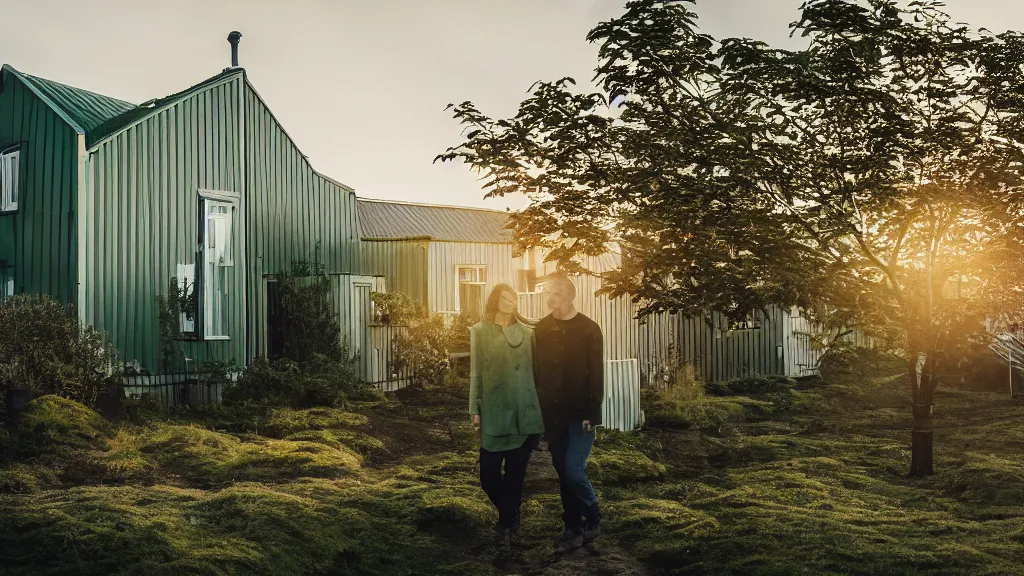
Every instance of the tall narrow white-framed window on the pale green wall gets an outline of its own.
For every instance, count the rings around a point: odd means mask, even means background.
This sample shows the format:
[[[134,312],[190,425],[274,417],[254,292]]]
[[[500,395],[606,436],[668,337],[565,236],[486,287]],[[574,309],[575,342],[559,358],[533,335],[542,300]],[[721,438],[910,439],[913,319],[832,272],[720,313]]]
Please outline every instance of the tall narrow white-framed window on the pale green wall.
[[[203,279],[202,330],[207,340],[229,338],[228,327],[232,293],[232,270],[236,251],[236,223],[238,222],[238,197],[225,193],[201,192],[200,213],[202,238]],[[187,320],[184,326],[187,326]],[[195,329],[195,328],[194,328]]]

